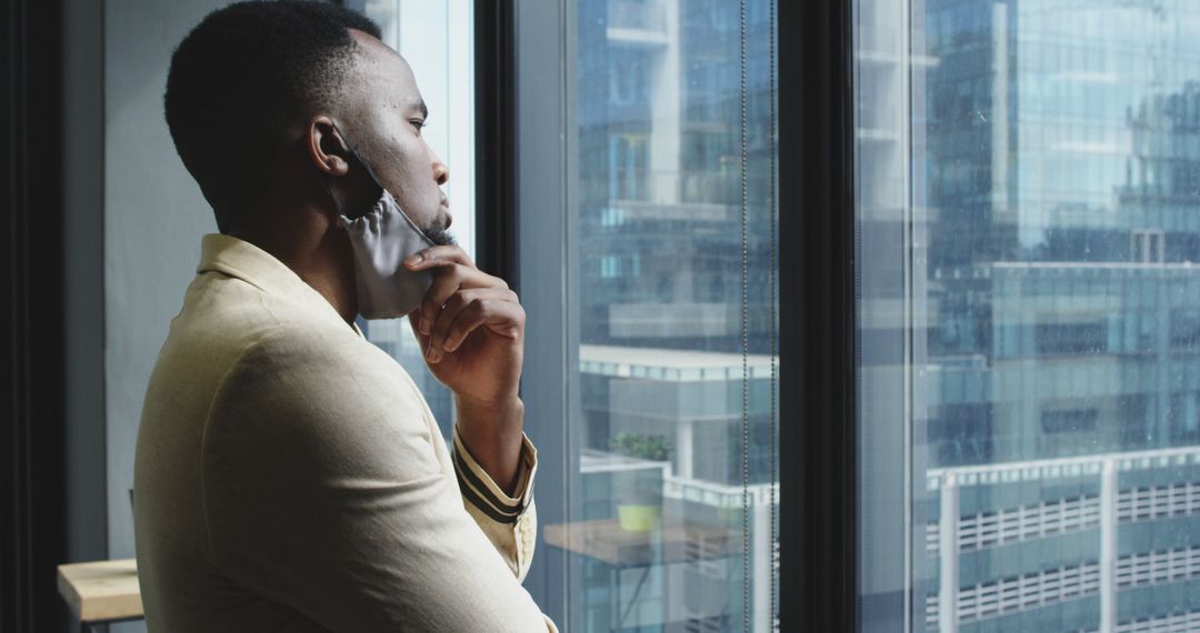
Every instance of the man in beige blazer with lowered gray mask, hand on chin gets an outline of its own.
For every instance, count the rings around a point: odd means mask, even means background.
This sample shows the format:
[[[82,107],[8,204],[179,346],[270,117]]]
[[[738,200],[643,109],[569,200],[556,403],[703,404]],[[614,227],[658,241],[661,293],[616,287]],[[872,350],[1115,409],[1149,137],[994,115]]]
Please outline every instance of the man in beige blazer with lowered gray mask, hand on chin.
[[[452,246],[449,170],[421,138],[412,71],[378,37],[334,5],[244,2],[172,58],[167,122],[221,233],[203,240],[138,436],[152,632],[554,631],[521,586],[536,530],[524,313]],[[401,271],[394,229],[436,246]],[[454,391],[452,450],[354,325],[421,275],[404,309]]]

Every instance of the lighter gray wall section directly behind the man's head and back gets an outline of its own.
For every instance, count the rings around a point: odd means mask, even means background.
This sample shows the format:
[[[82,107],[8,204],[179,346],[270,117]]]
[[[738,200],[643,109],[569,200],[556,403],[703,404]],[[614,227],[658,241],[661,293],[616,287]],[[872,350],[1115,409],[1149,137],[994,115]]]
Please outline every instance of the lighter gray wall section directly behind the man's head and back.
[[[108,555],[131,557],[133,450],[146,381],[212,211],[162,115],[170,53],[218,0],[104,2],[104,420]],[[114,626],[139,631],[143,625]]]

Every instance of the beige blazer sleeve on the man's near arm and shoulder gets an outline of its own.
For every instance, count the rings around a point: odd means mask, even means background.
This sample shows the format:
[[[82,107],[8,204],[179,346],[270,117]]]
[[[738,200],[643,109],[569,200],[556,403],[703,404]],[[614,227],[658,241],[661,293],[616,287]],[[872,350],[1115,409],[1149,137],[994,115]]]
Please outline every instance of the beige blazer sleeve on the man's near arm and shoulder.
[[[200,547],[335,632],[556,631],[466,510],[415,387],[362,354],[281,327],[229,369],[204,435]]]

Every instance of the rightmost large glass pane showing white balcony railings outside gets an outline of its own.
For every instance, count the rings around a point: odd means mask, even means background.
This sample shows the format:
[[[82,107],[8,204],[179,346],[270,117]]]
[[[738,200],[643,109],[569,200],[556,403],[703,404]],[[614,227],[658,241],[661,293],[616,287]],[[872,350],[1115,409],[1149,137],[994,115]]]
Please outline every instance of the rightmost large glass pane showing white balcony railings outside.
[[[1200,631],[1200,5],[856,0],[868,631]]]

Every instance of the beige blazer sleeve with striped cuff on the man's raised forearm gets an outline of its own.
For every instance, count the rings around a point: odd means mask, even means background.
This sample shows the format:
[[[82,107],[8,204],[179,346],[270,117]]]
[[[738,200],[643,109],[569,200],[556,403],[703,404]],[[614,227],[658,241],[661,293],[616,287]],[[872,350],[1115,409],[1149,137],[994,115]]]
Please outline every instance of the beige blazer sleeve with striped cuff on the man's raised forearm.
[[[475,462],[462,444],[458,427],[454,429],[452,459],[463,506],[517,580],[523,581],[533,562],[538,533],[538,508],[534,507],[533,481],[538,472],[538,450],[522,436],[516,496],[509,496]]]

